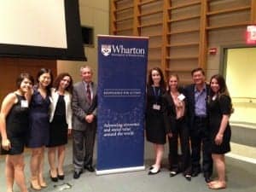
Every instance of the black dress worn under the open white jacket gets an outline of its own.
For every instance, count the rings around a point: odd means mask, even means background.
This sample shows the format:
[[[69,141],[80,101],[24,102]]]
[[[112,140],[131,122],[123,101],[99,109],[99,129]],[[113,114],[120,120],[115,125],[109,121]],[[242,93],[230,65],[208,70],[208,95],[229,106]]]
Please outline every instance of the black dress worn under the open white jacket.
[[[56,147],[67,144],[66,104],[64,96],[59,95],[55,114],[49,129],[49,144],[47,147]]]

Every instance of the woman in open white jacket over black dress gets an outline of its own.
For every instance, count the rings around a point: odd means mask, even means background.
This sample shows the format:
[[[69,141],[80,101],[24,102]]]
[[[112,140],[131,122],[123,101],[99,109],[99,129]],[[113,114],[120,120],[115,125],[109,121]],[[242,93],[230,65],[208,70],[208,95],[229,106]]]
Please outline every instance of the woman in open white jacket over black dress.
[[[67,144],[67,135],[71,134],[72,129],[72,89],[73,79],[68,73],[59,74],[51,89],[52,102],[50,104],[50,129],[47,147],[49,148],[49,176],[53,182],[57,182],[58,178],[64,179],[65,145]]]

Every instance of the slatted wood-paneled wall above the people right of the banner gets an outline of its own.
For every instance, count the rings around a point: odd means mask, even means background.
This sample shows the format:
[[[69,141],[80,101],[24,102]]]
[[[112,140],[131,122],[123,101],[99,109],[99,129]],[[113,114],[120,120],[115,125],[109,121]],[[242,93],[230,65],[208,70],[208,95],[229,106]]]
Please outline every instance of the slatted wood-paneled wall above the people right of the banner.
[[[166,77],[177,73],[182,84],[191,81],[191,69],[207,70],[207,49],[216,38],[230,43],[235,30],[244,43],[246,26],[256,24],[256,0],[110,0],[110,5],[110,34],[149,37],[148,68],[160,66]]]

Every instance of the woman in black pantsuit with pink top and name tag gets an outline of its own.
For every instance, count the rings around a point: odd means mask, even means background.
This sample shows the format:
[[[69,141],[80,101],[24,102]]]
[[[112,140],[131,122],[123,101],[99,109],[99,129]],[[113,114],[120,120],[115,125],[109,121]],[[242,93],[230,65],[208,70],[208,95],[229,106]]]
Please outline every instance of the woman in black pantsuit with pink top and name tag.
[[[183,89],[178,87],[179,78],[177,74],[171,74],[168,79],[167,101],[167,123],[172,129],[172,137],[169,141],[169,164],[170,177],[183,172],[187,180],[190,176],[190,150],[189,150],[189,127],[186,119],[186,98]],[[180,142],[178,142],[178,139]],[[177,154],[177,145],[180,143],[182,154]]]

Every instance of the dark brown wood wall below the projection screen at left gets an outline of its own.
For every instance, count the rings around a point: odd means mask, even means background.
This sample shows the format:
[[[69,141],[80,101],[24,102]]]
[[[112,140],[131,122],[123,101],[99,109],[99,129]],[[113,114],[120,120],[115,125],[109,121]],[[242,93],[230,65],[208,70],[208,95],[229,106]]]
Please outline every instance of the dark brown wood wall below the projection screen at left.
[[[16,90],[16,78],[20,73],[30,73],[36,81],[40,68],[49,68],[56,75],[56,61],[20,58],[0,58],[0,102],[9,92]]]

